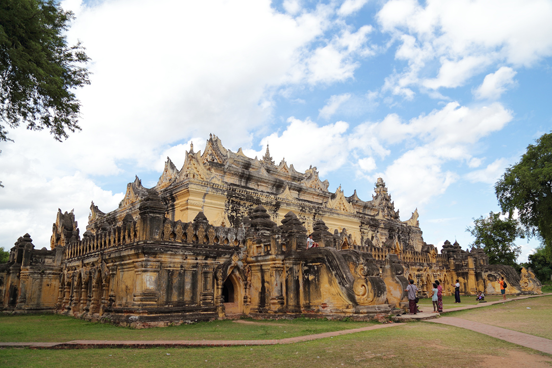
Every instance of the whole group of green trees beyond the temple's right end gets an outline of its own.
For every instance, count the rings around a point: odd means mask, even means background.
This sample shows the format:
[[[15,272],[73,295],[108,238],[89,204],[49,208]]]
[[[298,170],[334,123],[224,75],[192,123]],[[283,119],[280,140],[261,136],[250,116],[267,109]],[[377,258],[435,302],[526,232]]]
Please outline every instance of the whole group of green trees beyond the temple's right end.
[[[529,145],[521,160],[508,167],[495,184],[502,212],[474,218],[466,231],[475,237],[472,246],[489,255],[490,264],[530,267],[541,282],[552,274],[552,133]],[[521,247],[517,238],[537,237],[541,246],[528,262],[517,264]]]

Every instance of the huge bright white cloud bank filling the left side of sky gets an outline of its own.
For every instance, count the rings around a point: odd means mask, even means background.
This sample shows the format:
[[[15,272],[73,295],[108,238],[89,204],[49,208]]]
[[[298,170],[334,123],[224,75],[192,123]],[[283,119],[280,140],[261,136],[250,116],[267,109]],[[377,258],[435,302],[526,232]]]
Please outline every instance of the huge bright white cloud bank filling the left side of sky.
[[[15,143],[1,147],[0,196],[11,207],[3,206],[2,220],[51,224],[57,207],[71,202],[82,229],[91,200],[105,201],[107,210],[120,200],[100,188],[107,178],[160,171],[167,156],[181,166],[190,140],[203,137],[203,146],[210,132],[228,147],[251,146],[285,89],[353,78],[355,58],[371,55],[371,26],[333,22],[337,4],[303,5],[286,0],[280,13],[269,0],[64,1],[77,17],[68,42],[81,40],[92,58],[91,86],[76,91],[82,132],[59,143],[10,129]],[[343,125],[334,124],[329,136]],[[55,184],[65,192],[54,193]],[[3,229],[9,234],[2,238],[13,241],[23,231]]]

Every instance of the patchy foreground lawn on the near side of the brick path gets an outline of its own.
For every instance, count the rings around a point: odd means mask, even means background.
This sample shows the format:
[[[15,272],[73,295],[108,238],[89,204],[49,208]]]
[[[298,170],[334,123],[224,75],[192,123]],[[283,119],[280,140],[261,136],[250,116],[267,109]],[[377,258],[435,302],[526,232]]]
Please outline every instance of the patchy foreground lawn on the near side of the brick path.
[[[498,366],[490,363],[500,362],[505,357],[509,364],[516,366],[542,367],[552,363],[551,356],[470,330],[413,322],[289,345],[194,349],[1,349],[0,366],[492,368]]]

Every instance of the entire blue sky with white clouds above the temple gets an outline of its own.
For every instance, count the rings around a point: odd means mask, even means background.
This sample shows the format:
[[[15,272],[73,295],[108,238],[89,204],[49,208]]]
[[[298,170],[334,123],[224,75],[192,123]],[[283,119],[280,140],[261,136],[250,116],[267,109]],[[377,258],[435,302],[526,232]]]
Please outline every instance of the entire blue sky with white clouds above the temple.
[[[0,246],[49,247],[57,209],[85,231],[135,175],[156,184],[209,134],[370,200],[385,180],[424,241],[471,241],[493,184],[550,132],[552,2],[66,0],[92,58],[65,142],[10,130],[0,149]],[[520,262],[538,246],[519,239]]]

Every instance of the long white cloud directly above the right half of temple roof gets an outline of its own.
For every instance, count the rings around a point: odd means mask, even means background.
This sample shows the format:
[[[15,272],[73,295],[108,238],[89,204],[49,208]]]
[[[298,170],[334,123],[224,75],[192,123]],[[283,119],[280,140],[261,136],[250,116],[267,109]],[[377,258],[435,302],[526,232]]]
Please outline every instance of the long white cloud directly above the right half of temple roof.
[[[342,121],[319,125],[310,119],[291,118],[281,134],[274,133],[261,142],[263,147],[269,143],[275,161],[285,155],[288,164],[293,163],[298,170],[316,164],[326,175],[352,165],[357,167],[357,175],[372,182],[382,177],[397,208],[413,209],[442,195],[452,183],[462,179],[459,173],[445,168],[447,163],[479,166],[481,159],[471,156],[474,145],[511,120],[511,111],[500,103],[470,107],[453,102],[408,121],[389,114],[381,121],[365,122],[352,129]],[[399,145],[404,151],[393,157],[383,171],[374,173],[378,160],[390,156],[392,148]],[[261,157],[263,150],[245,152],[250,157]],[[503,164],[497,160],[465,178],[491,180]]]

